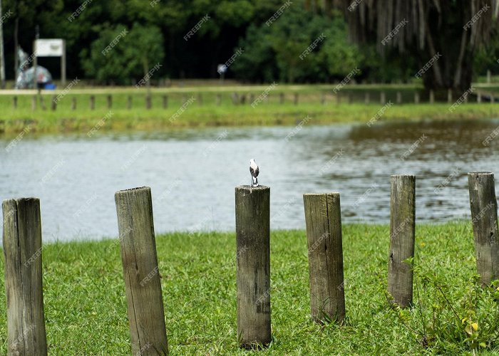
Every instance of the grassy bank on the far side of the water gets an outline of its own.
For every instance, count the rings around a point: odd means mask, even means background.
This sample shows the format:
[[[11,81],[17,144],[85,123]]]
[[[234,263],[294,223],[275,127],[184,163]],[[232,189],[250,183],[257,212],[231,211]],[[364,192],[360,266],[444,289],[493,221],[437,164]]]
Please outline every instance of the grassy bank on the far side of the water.
[[[177,88],[175,90],[156,89],[151,94],[152,108],[145,108],[146,91],[143,89],[94,89],[69,90],[58,100],[57,109],[51,110],[51,100],[61,92],[44,92],[43,110],[38,98],[36,109],[32,110],[33,94],[7,93],[0,95],[0,135],[15,136],[26,127],[30,134],[81,132],[85,134],[98,125],[99,132],[106,130],[168,130],[172,127],[196,127],[217,125],[297,125],[304,117],[311,117],[309,124],[330,122],[368,122],[383,105],[379,103],[381,90],[386,93],[386,100],[393,106],[386,108],[381,115],[383,120],[421,120],[421,119],[475,119],[499,117],[499,105],[490,103],[468,103],[460,105],[450,112],[448,103],[413,104],[413,86],[366,86],[356,85],[339,92],[339,102],[332,94],[333,85],[279,85],[269,92],[268,102],[262,102],[252,108],[252,98],[258,98],[267,87],[196,87]],[[496,88],[483,88],[492,92]],[[234,105],[231,95],[237,92],[239,101],[245,95],[245,103]],[[401,93],[402,104],[396,104],[396,93]],[[280,103],[280,94],[284,94],[284,103]],[[299,94],[299,103],[294,104],[294,93]],[[366,93],[370,93],[371,102],[364,104]],[[113,96],[113,105],[108,109],[107,95]],[[95,96],[95,110],[90,108],[91,95]],[[168,95],[168,108],[163,108],[163,95]],[[216,105],[220,95],[220,105]],[[421,100],[427,98],[421,94]],[[17,108],[14,108],[14,96]],[[128,109],[128,97],[132,98],[132,107]],[[184,100],[192,98],[192,103],[185,106],[180,115],[172,117],[182,108]],[[324,103],[321,103],[324,98]],[[72,109],[73,99],[76,110]],[[349,103],[350,100],[352,103]],[[103,117],[106,117],[103,120]],[[172,120],[170,120],[172,119]],[[103,120],[103,121],[101,121]],[[98,124],[101,122],[101,124]]]

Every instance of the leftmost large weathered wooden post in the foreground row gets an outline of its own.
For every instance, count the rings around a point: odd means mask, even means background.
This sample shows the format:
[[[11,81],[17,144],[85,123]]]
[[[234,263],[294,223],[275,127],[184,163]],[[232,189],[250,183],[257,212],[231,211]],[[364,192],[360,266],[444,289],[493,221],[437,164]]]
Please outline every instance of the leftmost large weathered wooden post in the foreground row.
[[[4,211],[7,354],[47,355],[37,198],[7,199]]]

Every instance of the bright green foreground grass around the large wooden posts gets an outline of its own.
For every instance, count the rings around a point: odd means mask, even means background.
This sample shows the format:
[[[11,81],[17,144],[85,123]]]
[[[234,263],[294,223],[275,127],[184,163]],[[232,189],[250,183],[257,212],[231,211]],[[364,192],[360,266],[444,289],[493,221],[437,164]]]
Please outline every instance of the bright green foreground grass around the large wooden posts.
[[[470,224],[417,226],[415,306],[406,312],[392,310],[384,295],[388,244],[388,226],[344,225],[346,325],[321,328],[309,320],[304,231],[274,231],[274,341],[265,353],[499,352],[498,305],[493,290],[475,283]],[[234,234],[167,234],[157,237],[157,248],[172,354],[246,355],[236,342]],[[117,241],[48,244],[43,276],[49,354],[130,353]],[[2,278],[0,308],[4,305]],[[1,354],[5,318],[0,313]]]

